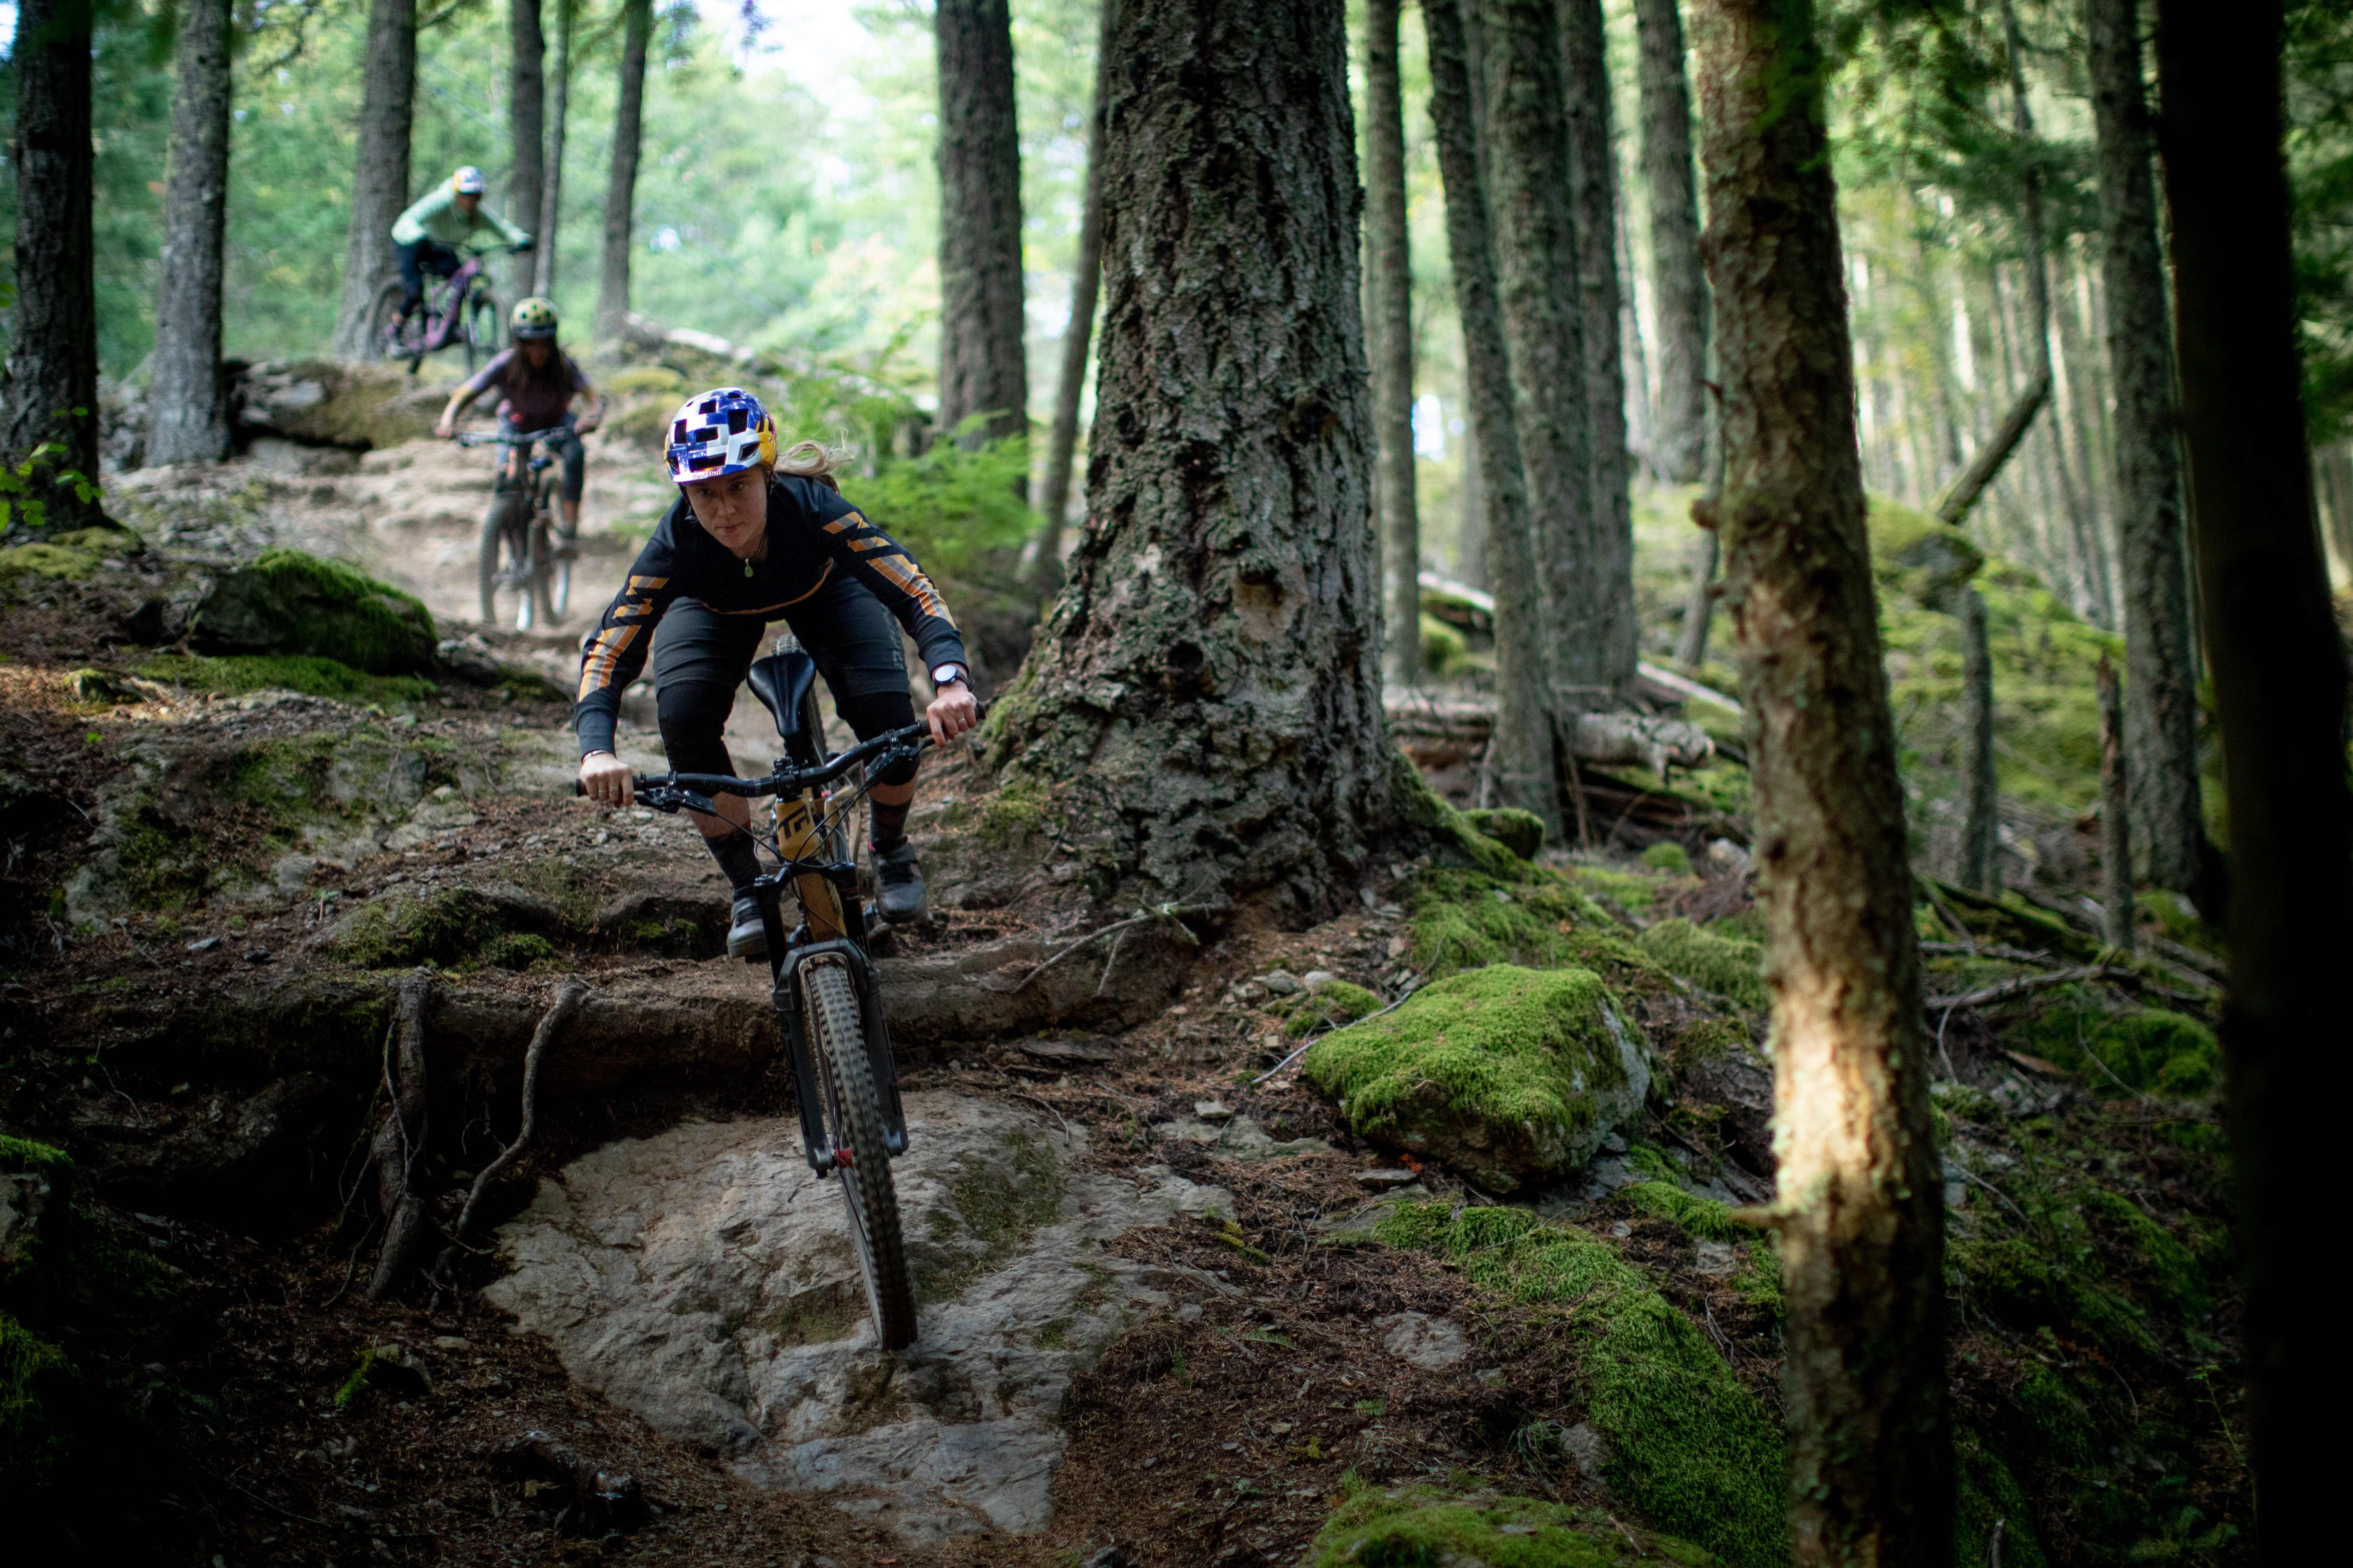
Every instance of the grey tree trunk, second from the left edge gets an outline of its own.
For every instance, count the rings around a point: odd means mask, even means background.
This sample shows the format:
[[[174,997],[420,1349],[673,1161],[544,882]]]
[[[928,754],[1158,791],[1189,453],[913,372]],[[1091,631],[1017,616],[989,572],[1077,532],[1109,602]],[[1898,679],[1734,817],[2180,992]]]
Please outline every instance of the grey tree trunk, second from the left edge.
[[[162,197],[148,463],[228,456],[221,378],[221,233],[228,219],[228,0],[184,0]]]

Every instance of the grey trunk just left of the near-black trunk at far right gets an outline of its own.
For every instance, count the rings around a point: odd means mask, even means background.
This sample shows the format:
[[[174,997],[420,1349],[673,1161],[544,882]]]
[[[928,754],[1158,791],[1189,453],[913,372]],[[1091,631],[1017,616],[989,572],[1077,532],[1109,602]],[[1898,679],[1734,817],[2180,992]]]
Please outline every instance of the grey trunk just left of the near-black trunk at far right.
[[[2181,447],[2148,99],[2134,0],[2087,0],[2092,118],[2099,129],[2101,282],[2115,376],[2115,529],[2125,576],[2125,783],[2144,875],[2191,893],[2198,811],[2198,663],[2184,567]],[[2209,910],[2217,912],[2219,910]]]

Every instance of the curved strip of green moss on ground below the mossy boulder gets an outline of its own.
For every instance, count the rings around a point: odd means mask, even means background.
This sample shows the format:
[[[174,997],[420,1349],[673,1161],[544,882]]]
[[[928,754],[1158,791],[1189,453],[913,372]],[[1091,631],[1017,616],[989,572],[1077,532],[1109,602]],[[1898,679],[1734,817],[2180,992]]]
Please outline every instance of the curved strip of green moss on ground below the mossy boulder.
[[[1640,1269],[1520,1208],[1405,1204],[1374,1234],[1435,1251],[1506,1300],[1558,1302],[1579,1345],[1586,1420],[1612,1448],[1609,1488],[1661,1530],[1741,1568],[1786,1561],[1781,1432]]]

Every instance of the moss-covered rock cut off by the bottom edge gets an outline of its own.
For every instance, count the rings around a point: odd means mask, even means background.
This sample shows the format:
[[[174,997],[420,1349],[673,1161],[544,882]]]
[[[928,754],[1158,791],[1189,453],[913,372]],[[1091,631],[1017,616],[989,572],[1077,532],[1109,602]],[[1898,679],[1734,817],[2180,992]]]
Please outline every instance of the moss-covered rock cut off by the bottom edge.
[[[1424,1483],[1351,1488],[1306,1561],[1313,1568],[1619,1568],[1657,1561],[1708,1568],[1720,1559],[1687,1540],[1628,1530],[1600,1509]]]

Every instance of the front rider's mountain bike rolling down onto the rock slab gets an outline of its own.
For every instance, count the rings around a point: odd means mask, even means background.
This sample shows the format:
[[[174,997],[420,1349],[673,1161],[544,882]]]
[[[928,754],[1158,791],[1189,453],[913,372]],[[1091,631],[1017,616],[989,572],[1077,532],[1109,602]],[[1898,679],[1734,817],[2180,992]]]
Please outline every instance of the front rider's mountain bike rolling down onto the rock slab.
[[[915,759],[932,743],[932,731],[908,724],[828,757],[809,654],[769,654],[753,663],[748,679],[774,715],[786,752],[767,778],[673,771],[635,778],[633,790],[654,811],[715,816],[715,795],[776,802],[774,837],[762,842],[784,865],[751,891],[767,926],[772,999],[800,1105],[802,1152],[819,1178],[842,1190],[875,1340],[882,1349],[906,1349],[915,1342],[915,1291],[889,1175],[892,1157],[906,1152],[906,1112],[899,1107],[889,1030],[882,1027],[880,976],[866,957],[866,907],[847,827],[866,788],[828,785],[856,766],[873,778]],[[784,917],[788,886],[798,905],[791,929]]]

